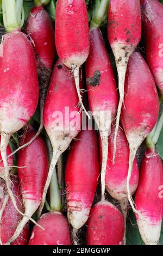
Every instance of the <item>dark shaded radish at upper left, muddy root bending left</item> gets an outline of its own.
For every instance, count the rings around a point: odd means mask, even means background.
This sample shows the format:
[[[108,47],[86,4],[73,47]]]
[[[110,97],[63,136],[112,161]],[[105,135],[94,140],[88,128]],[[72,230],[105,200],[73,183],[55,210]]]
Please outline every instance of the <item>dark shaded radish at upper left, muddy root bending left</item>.
[[[36,54],[37,73],[40,85],[40,127],[35,137],[33,137],[30,142],[22,145],[12,154],[15,154],[18,150],[25,148],[32,143],[43,128],[43,105],[55,55],[54,29],[52,21],[47,11],[42,6],[42,3],[48,4],[48,2],[49,0],[35,1],[36,6],[30,11],[25,27],[25,33],[33,40]]]

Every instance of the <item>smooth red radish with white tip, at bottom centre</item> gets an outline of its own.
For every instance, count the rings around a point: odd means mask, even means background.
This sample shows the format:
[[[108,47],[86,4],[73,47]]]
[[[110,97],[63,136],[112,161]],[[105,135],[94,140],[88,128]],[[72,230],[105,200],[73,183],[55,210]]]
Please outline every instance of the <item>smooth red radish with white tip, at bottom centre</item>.
[[[67,217],[73,235],[87,221],[99,176],[98,142],[93,130],[81,131],[71,144],[66,162]],[[85,158],[85,161],[83,159]],[[75,237],[73,237],[75,240]],[[77,245],[76,241],[73,241]]]

